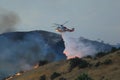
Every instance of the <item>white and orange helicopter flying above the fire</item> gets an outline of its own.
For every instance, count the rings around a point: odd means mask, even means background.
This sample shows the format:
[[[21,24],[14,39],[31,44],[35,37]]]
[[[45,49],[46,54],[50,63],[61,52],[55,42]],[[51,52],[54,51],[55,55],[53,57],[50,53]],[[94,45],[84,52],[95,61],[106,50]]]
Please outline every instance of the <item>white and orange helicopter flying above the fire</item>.
[[[73,32],[75,29],[74,28],[72,28],[72,29],[69,29],[69,28],[67,28],[66,26],[64,26],[66,23],[68,23],[68,21],[67,22],[65,22],[64,24],[56,24],[56,23],[54,23],[54,27],[56,27],[56,31],[57,32],[60,32],[60,33],[62,33],[62,32]]]

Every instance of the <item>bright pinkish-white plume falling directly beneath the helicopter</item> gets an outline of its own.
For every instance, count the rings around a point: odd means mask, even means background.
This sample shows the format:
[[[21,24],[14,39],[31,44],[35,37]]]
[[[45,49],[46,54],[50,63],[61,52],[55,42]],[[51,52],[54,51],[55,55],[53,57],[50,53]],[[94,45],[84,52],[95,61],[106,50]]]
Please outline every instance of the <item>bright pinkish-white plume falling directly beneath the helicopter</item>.
[[[73,57],[82,58],[87,55],[94,56],[96,53],[93,45],[83,43],[82,38],[74,38],[69,32],[62,33],[62,38],[65,42],[64,53],[68,59]]]

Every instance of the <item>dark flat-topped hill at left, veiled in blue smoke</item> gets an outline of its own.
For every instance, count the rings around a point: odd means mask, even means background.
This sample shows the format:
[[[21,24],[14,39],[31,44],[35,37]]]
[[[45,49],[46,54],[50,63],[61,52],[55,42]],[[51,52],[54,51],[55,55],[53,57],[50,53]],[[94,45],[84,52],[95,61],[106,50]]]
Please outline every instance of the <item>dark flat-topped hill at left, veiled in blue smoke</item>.
[[[29,70],[40,60],[66,59],[60,35],[46,31],[5,33],[0,45],[0,75]]]

